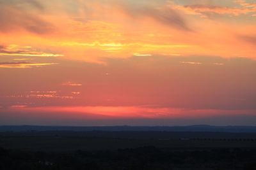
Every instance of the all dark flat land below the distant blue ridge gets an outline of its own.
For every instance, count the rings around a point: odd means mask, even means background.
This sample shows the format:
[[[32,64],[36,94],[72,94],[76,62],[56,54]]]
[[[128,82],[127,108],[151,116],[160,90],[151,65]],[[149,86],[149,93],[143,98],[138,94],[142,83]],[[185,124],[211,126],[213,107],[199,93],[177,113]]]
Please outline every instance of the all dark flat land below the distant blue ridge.
[[[0,169],[256,169],[256,133],[0,132]]]

